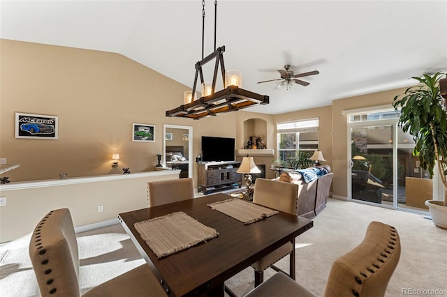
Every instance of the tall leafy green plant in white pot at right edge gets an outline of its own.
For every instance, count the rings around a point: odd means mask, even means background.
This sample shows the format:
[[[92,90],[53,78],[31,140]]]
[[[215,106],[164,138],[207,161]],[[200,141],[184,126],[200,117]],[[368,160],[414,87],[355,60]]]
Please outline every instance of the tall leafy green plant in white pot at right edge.
[[[446,102],[439,88],[439,80],[443,75],[444,73],[436,73],[432,76],[413,77],[420,84],[395,96],[393,107],[396,111],[400,108],[400,128],[413,135],[416,142],[413,155],[418,156],[420,166],[428,169],[430,178],[437,167],[446,190],[447,116]],[[434,224],[447,229],[447,199],[427,200],[425,205],[429,208]]]

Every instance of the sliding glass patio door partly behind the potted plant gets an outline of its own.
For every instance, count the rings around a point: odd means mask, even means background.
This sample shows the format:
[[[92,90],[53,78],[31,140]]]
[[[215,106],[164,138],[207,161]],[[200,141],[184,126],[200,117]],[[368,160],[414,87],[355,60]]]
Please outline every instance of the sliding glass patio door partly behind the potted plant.
[[[393,110],[349,115],[349,199],[427,211],[432,181],[412,155],[413,138],[397,127],[398,116]],[[411,195],[416,190],[419,201]]]

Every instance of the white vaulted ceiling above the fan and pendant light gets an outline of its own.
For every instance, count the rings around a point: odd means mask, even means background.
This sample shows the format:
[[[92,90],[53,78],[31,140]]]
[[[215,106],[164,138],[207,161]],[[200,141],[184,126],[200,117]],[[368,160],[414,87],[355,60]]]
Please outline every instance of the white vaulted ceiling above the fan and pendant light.
[[[116,52],[192,88],[202,59],[202,1],[0,1],[0,38]],[[205,5],[205,56],[214,1]],[[231,1],[217,6],[217,47],[243,89],[270,96],[250,111],[279,114],[408,86],[447,71],[447,1]],[[288,63],[309,86],[273,91]],[[213,64],[213,63],[209,63]],[[212,80],[205,68],[205,80]],[[221,77],[219,76],[219,79]],[[185,90],[186,91],[186,90]],[[179,104],[182,98],[179,98]],[[374,102],[371,102],[374,105]],[[173,108],[175,108],[173,106]]]

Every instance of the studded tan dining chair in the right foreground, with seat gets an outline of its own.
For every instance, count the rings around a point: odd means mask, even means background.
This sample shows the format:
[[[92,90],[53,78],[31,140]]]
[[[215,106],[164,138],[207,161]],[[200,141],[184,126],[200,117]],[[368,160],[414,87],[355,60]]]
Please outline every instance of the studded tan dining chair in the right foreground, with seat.
[[[394,227],[382,222],[369,223],[362,243],[332,264],[324,296],[385,296],[388,282],[399,262],[400,248],[399,234]],[[282,273],[276,273],[246,295],[264,296],[316,295]]]

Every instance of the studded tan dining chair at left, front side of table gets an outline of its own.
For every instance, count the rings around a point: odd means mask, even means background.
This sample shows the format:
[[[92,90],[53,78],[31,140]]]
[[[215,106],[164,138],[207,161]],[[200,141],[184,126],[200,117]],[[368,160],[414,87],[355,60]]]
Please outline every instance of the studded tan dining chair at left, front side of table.
[[[47,213],[38,223],[29,243],[29,256],[41,296],[78,297],[78,242],[68,208]],[[82,296],[166,296],[149,266],[143,264]]]

